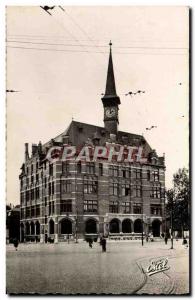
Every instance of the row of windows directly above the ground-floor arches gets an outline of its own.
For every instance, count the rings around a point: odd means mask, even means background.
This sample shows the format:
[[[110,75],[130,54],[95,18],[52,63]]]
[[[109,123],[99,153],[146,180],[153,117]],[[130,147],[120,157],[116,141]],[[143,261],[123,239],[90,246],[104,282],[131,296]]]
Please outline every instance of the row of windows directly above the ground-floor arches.
[[[130,202],[123,202],[122,203],[122,211],[121,213],[130,214],[131,213],[131,206]],[[111,201],[109,203],[109,212],[110,213],[119,213],[119,202]],[[97,200],[84,200],[84,213],[97,213],[98,212],[98,201]],[[72,212],[72,200],[61,200],[60,202],[60,212],[61,213],[71,213]],[[134,214],[142,214],[142,204],[135,203],[132,206],[132,213]],[[151,215],[161,216],[162,208],[160,204],[152,204],[150,207]],[[49,215],[54,214],[54,201],[49,202]],[[40,216],[40,205],[35,205],[32,207],[26,208],[26,218],[28,217],[38,217]],[[25,218],[24,209],[21,209],[21,218]]]

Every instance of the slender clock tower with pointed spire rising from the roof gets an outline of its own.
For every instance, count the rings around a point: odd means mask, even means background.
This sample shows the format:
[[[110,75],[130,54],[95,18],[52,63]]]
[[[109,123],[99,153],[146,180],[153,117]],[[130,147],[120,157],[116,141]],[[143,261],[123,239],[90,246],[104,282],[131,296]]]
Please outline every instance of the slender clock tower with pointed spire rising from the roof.
[[[112,134],[117,134],[118,131],[118,110],[120,104],[120,98],[116,94],[114,70],[112,63],[112,43],[110,41],[110,55],[108,62],[108,72],[106,81],[106,91],[102,97],[102,103],[104,106],[104,127],[106,131]]]

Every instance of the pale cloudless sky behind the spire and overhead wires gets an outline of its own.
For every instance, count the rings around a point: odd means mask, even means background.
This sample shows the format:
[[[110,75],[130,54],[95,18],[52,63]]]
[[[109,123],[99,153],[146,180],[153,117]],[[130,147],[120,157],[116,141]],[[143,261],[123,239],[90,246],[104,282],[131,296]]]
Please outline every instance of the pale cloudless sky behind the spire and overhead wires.
[[[188,8],[38,6],[6,12],[7,203],[19,203],[24,143],[62,133],[72,118],[103,126],[112,40],[119,130],[165,153],[166,186],[189,163]],[[28,48],[28,49],[26,49]],[[42,50],[40,50],[42,49]],[[125,96],[129,91],[144,94]],[[157,128],[147,131],[152,125]]]

